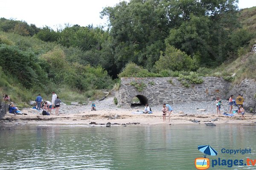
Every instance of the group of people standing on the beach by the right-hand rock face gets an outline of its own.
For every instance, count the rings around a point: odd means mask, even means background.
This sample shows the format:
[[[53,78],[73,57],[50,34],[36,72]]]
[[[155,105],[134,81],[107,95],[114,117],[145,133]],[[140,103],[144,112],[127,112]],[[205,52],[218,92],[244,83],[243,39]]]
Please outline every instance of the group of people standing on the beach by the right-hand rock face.
[[[244,108],[243,108],[244,98],[243,98],[243,96],[241,94],[239,94],[236,97],[236,100],[233,98],[234,98],[234,95],[230,95],[229,103],[228,103],[229,113],[230,114],[232,113],[233,105],[237,106],[238,107],[237,113],[238,114],[241,113],[241,117],[242,117],[242,119],[244,119]],[[217,115],[218,115],[218,113],[221,114],[221,105],[222,105],[221,98],[217,97],[215,104],[217,107]]]

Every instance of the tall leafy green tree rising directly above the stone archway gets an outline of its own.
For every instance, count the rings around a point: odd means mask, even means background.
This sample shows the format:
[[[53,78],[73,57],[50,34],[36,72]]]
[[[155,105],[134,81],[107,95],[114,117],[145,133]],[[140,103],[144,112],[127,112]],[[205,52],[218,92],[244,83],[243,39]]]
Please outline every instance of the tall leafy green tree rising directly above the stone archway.
[[[105,8],[102,16],[108,16],[110,20],[117,70],[120,71],[129,61],[153,69],[169,34],[160,0],[121,2],[115,7]]]

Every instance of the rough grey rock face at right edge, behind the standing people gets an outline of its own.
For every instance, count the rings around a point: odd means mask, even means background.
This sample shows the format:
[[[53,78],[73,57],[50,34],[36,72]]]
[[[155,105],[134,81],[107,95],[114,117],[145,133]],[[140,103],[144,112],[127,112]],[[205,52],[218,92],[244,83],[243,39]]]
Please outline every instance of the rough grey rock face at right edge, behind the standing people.
[[[241,94],[244,97],[244,109],[256,113],[256,82],[254,79],[244,79],[240,84],[234,85],[228,96],[234,95],[234,99]]]

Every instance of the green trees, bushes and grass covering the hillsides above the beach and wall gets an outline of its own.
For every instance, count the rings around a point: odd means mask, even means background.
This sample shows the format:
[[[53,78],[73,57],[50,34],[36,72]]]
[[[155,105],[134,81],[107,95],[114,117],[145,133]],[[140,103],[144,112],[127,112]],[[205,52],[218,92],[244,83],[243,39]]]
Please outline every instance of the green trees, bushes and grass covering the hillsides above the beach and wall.
[[[256,7],[237,0],[130,0],[106,7],[109,28],[57,31],[0,18],[0,93],[23,105],[36,94],[85,102],[118,77],[256,75]],[[136,64],[135,64],[136,63]],[[25,104],[24,104],[25,105]]]

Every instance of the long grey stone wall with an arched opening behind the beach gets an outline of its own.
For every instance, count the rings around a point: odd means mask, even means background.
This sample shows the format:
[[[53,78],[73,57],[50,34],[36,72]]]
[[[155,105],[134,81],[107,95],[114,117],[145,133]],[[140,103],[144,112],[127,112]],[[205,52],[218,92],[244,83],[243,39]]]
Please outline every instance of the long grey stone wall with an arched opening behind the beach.
[[[172,79],[172,84],[169,80]],[[215,96],[227,98],[230,83],[218,77],[202,77],[204,82],[185,88],[177,77],[121,78],[119,93],[116,93],[118,105],[131,107],[131,100],[137,96],[141,104],[162,105],[163,103],[181,103],[189,101],[213,100]],[[146,87],[142,92],[130,85],[130,82],[143,82]]]

